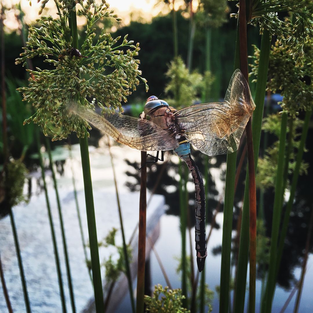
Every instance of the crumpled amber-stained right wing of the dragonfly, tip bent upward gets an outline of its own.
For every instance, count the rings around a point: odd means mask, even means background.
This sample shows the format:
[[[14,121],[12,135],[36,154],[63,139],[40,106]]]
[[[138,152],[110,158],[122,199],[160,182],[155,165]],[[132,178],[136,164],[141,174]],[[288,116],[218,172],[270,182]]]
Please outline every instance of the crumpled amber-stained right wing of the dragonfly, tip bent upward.
[[[177,111],[175,123],[201,152],[214,156],[236,151],[255,104],[249,85],[237,69],[225,101],[193,105]]]

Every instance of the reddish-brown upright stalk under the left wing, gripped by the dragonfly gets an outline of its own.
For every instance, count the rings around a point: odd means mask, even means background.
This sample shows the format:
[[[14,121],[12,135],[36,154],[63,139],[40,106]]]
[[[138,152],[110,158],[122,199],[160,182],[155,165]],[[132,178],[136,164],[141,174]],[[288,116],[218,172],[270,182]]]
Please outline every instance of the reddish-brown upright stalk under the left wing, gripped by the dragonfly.
[[[136,313],[144,311],[146,263],[147,152],[141,151]]]

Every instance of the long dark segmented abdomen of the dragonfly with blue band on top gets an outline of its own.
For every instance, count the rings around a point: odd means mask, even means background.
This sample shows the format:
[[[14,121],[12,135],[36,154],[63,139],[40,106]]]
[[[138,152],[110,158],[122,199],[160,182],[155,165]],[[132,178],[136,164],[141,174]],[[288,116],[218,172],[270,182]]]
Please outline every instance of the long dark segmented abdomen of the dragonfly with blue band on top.
[[[196,163],[193,161],[190,155],[190,143],[186,140],[186,138],[181,138],[179,141],[179,147],[174,151],[182,160],[184,160],[184,162],[186,162],[195,185],[195,241],[197,251],[197,265],[199,272],[201,272],[204,268],[204,262],[207,256],[207,241],[205,234],[205,192],[203,179]]]

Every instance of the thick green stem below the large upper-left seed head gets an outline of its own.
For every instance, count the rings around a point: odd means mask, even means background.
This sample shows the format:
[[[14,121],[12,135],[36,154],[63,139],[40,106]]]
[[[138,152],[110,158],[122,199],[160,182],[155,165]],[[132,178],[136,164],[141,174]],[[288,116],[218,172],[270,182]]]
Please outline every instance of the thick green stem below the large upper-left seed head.
[[[90,161],[88,151],[87,133],[84,138],[80,138],[80,155],[83,169],[84,188],[85,188],[85,202],[87,213],[87,224],[89,233],[89,246],[92,268],[92,281],[94,283],[95,306],[96,312],[104,312],[102,280],[99,261],[98,239],[95,219],[95,207],[92,192]]]

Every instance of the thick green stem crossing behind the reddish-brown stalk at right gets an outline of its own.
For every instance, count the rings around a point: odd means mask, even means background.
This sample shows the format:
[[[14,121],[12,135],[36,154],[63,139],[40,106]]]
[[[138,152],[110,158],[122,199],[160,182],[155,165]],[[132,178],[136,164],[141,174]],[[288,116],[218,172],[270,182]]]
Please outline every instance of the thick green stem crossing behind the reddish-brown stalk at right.
[[[264,30],[261,40],[260,58],[259,58],[259,73],[255,91],[255,105],[256,108],[253,113],[252,123],[252,138],[254,146],[254,171],[257,170],[259,145],[261,136],[261,126],[263,119],[265,88],[267,81],[267,71],[269,63],[269,49],[270,49],[270,35],[269,31]],[[246,174],[246,182],[244,188],[244,205],[242,212],[242,223],[240,230],[240,244],[238,254],[238,269],[236,279],[235,292],[235,307],[234,312],[244,312],[244,299],[246,291],[246,278],[248,267],[248,252],[249,252],[249,172]],[[239,279],[238,279],[239,278]]]

